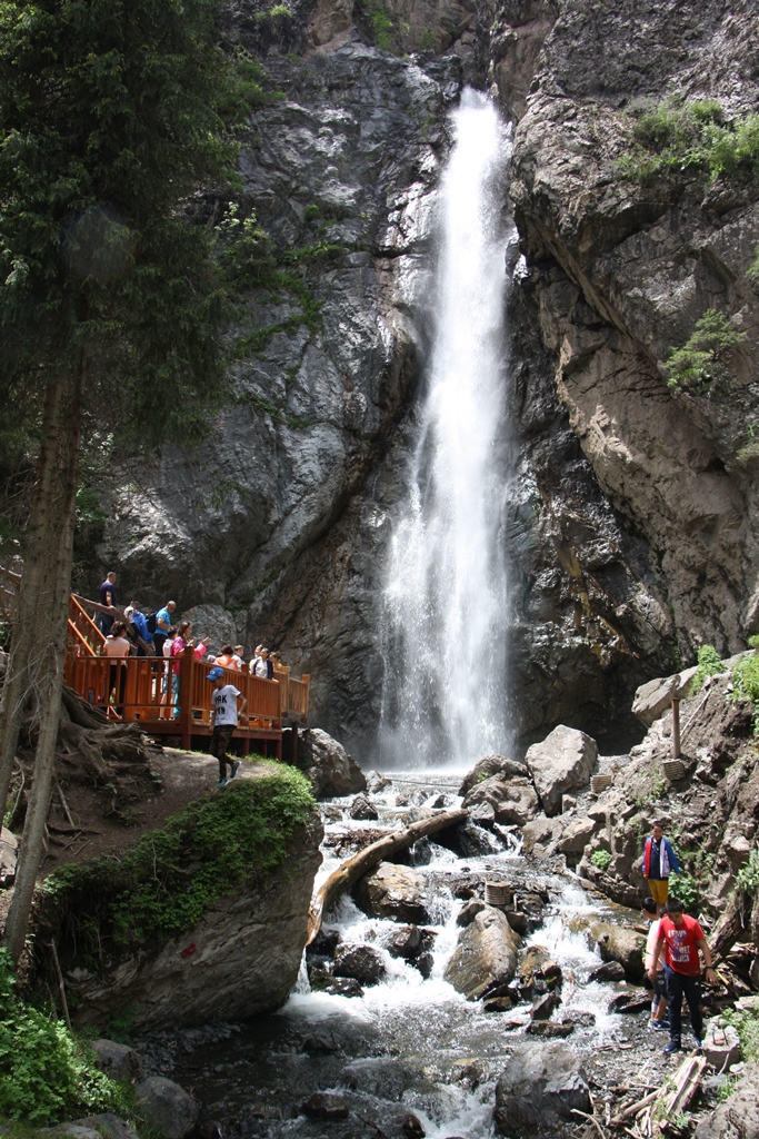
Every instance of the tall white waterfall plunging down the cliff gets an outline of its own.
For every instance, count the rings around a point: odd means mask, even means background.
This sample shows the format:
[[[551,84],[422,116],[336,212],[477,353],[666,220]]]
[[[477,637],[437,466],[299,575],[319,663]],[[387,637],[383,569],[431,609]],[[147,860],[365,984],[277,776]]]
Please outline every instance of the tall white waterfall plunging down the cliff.
[[[509,141],[467,90],[442,180],[432,346],[383,591],[383,767],[508,747],[503,503]]]

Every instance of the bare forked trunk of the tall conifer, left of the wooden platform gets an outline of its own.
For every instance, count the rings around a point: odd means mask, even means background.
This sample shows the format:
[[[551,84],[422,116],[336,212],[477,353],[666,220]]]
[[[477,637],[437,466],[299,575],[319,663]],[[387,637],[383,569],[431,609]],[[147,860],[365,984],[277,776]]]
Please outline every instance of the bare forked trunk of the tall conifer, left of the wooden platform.
[[[14,628],[18,653],[11,656],[11,698],[3,706],[2,775],[18,740],[20,711],[27,695],[35,705],[39,724],[34,755],[34,782],[18,855],[16,885],[8,911],[3,943],[14,960],[24,948],[36,875],[44,846],[44,828],[50,805],[58,723],[64,686],[64,663],[71,591],[76,480],[84,390],[84,360],[74,374],[48,388],[44,439],[32,506],[30,542]],[[0,786],[2,802],[7,780]]]

